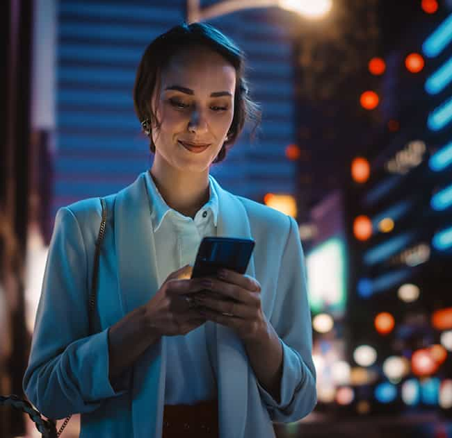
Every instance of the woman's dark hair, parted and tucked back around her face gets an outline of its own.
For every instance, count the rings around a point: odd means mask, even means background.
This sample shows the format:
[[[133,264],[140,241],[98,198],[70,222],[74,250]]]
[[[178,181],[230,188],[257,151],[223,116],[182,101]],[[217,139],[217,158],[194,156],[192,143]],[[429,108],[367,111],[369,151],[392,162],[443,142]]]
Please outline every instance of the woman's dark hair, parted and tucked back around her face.
[[[227,145],[233,144],[241,133],[245,121],[253,121],[252,135],[261,119],[257,103],[248,96],[248,85],[244,77],[245,56],[241,49],[234,44],[226,35],[210,24],[192,23],[179,24],[168,32],[156,37],[146,48],[136,71],[134,84],[134,107],[138,119],[141,121],[149,119],[156,126],[160,121],[152,111],[151,96],[156,87],[161,71],[165,69],[172,56],[181,49],[202,45],[219,53],[236,70],[236,90],[234,94],[234,117],[227,133],[227,141],[213,162],[223,161],[227,153]],[[149,124],[149,125],[152,125]],[[149,126],[151,129],[151,126]],[[155,153],[155,144],[150,137],[150,151]]]

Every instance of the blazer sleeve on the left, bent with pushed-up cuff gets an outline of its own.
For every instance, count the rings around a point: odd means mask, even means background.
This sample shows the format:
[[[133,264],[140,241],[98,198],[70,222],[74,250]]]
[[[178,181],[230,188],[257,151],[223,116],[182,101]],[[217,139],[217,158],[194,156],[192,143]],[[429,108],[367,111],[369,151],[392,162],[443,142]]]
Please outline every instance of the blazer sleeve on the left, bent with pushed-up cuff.
[[[92,412],[127,392],[108,380],[108,328],[88,335],[87,260],[76,217],[60,208],[22,382],[29,401],[51,419]]]

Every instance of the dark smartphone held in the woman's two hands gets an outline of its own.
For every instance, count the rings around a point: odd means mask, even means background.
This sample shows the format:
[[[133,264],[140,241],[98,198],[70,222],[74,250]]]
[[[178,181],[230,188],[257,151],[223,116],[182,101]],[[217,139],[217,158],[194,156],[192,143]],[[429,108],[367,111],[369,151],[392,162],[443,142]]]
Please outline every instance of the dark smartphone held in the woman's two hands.
[[[216,276],[220,268],[245,273],[254,248],[253,239],[204,237],[197,250],[191,278]]]

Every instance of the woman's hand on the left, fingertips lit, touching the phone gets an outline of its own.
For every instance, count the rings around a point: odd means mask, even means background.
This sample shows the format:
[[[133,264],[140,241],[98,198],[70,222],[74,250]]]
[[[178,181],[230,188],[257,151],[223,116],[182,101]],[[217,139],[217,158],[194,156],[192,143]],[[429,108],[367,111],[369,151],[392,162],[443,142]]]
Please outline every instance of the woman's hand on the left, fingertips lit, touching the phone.
[[[144,306],[147,327],[160,336],[186,335],[206,322],[191,304],[191,294],[205,289],[202,278],[190,278],[191,271],[187,265],[170,273]]]

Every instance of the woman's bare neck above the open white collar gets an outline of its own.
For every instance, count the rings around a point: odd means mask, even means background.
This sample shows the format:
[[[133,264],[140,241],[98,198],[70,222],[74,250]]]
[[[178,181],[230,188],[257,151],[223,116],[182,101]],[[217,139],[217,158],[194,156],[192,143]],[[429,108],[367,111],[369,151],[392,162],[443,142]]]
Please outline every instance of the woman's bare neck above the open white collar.
[[[159,171],[152,166],[150,175],[168,207],[194,218],[202,205],[209,201],[209,173],[181,174],[172,169]]]

